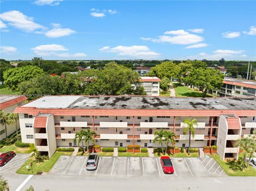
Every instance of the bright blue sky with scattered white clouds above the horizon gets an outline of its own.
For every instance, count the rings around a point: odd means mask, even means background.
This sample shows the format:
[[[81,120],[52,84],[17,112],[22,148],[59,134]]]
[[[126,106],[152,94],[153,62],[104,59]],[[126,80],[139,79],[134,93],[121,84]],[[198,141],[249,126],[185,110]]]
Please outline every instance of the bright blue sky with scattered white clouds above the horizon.
[[[256,60],[255,1],[1,1],[1,58]]]

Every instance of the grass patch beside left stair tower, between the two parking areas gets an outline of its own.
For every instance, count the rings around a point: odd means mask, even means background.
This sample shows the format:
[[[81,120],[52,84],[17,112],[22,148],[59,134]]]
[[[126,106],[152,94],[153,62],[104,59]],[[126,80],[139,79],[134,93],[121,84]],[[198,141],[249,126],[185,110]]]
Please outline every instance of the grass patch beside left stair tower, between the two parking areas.
[[[61,155],[71,155],[72,153],[73,152],[55,152],[51,159],[45,161],[39,160],[39,162],[35,160],[34,156],[31,156],[16,172],[25,175],[36,175],[38,172],[49,172]],[[30,168],[31,162],[33,162],[33,172]],[[29,165],[29,170],[27,170],[26,165]]]

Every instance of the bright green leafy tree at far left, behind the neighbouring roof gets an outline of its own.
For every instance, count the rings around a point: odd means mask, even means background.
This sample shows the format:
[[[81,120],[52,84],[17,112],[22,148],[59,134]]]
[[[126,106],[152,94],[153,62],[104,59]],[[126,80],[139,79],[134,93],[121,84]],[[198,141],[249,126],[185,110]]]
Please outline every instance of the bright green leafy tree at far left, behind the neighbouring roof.
[[[44,71],[36,66],[15,67],[4,72],[5,85],[14,91],[18,89],[21,82],[43,76],[43,74]]]

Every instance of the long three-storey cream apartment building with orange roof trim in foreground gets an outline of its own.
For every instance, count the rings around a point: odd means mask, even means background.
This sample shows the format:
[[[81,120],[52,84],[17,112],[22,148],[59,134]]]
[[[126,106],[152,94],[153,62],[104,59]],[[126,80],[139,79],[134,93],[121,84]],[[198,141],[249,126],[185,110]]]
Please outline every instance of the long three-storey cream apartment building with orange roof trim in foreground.
[[[154,132],[171,130],[176,146],[187,147],[185,119],[197,119],[191,147],[218,145],[224,157],[237,157],[237,139],[256,130],[256,97],[177,98],[150,96],[45,96],[17,107],[22,142],[50,156],[57,146],[77,146],[75,132],[97,132],[102,147],[160,147]]]

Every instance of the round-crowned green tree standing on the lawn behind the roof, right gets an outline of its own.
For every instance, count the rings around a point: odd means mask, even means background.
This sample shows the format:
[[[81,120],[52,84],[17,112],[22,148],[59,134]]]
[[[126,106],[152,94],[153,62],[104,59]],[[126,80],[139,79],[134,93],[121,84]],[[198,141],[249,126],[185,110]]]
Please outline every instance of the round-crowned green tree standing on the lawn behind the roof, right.
[[[222,86],[224,77],[225,75],[218,70],[197,68],[189,72],[185,81],[201,89],[203,97],[206,97],[209,90],[218,89]]]

